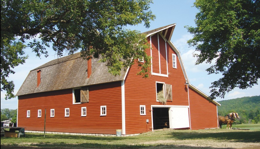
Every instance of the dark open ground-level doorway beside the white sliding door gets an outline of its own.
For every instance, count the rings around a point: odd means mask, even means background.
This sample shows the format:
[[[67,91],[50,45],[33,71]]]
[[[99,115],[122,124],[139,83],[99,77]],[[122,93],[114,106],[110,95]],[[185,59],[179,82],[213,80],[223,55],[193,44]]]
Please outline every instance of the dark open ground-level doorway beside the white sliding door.
[[[170,108],[153,108],[154,129],[170,128],[169,109]]]

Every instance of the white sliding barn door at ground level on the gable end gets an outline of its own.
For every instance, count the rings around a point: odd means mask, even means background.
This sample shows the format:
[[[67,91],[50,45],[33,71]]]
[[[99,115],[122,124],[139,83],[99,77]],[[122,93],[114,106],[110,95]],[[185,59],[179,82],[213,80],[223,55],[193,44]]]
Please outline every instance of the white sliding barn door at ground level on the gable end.
[[[170,128],[173,129],[190,127],[188,107],[171,107],[169,121]]]

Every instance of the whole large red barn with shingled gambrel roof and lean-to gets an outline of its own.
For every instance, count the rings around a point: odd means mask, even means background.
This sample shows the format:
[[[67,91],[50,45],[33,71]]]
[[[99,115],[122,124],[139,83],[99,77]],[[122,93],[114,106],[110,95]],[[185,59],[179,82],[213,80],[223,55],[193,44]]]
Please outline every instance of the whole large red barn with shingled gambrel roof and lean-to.
[[[145,32],[151,44],[149,79],[136,75],[137,64],[113,76],[104,63],[83,60],[80,53],[31,70],[16,94],[18,127],[43,131],[46,114],[46,131],[52,132],[116,134],[122,129],[125,135],[217,128],[220,104],[209,102],[190,84],[180,52],[170,41],[174,28]]]

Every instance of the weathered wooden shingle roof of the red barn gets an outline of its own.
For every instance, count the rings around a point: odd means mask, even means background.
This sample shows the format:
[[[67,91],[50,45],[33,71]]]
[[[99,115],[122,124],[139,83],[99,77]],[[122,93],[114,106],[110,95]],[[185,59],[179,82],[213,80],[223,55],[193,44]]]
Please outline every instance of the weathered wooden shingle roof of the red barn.
[[[147,37],[161,32],[164,37],[171,38],[175,24],[170,24],[156,28],[143,34]],[[167,32],[168,30],[171,30]],[[168,34],[167,34],[168,33]],[[126,71],[121,70],[121,75],[114,76],[108,72],[105,63],[98,62],[99,59],[92,59],[92,73],[87,78],[87,60],[81,57],[80,52],[58,58],[43,64],[29,72],[22,86],[17,92],[17,96],[61,89],[70,89],[94,84],[121,81],[126,75]],[[41,83],[37,87],[37,71],[41,70]]]

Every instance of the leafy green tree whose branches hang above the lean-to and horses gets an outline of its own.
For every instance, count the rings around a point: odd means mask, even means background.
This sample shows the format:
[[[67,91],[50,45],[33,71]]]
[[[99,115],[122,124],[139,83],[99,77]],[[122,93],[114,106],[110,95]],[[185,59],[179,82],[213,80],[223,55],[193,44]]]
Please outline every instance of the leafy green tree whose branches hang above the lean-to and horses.
[[[260,3],[258,0],[196,0],[196,27],[186,26],[199,54],[196,64],[212,63],[208,74],[222,73],[212,82],[210,99],[224,98],[239,87],[258,84],[260,78]]]

